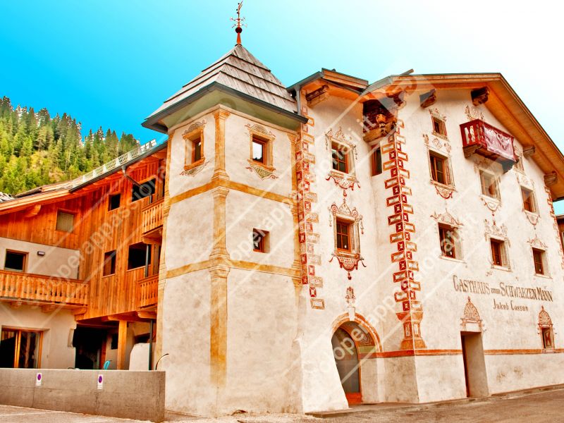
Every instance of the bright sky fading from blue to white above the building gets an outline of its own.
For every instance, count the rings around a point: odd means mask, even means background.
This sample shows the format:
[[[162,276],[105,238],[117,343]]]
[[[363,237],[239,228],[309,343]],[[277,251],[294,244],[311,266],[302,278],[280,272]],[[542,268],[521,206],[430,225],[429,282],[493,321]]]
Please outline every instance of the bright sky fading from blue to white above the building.
[[[500,3],[500,4],[498,4]],[[564,40],[544,1],[245,0],[243,45],[286,85],[321,67],[370,82],[501,72],[560,148]],[[140,123],[235,44],[237,1],[4,1],[0,95],[145,142]]]

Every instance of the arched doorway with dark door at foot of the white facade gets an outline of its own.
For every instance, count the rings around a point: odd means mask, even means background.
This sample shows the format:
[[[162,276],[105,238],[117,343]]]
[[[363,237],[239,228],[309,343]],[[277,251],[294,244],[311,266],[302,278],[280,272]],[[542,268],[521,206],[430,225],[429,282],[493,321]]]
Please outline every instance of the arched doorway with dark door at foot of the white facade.
[[[356,320],[356,319],[355,319]],[[360,319],[359,319],[360,321]],[[376,381],[362,381],[362,367],[375,364],[372,359],[378,351],[372,333],[357,323],[357,321],[341,320],[338,326],[333,326],[331,346],[333,357],[341,379],[341,385],[349,404],[360,404],[362,386],[375,384]],[[367,362],[369,360],[369,362]],[[374,374],[374,372],[369,372]],[[371,379],[371,378],[369,378]],[[372,391],[369,389],[369,391]],[[374,399],[373,392],[369,392],[369,400]]]

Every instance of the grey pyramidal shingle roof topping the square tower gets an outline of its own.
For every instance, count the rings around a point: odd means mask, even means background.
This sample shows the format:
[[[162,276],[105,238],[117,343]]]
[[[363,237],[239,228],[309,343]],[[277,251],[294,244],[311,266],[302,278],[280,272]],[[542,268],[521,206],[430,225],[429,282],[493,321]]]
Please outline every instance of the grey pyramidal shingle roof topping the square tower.
[[[221,59],[205,68],[200,75],[184,85],[151,116],[167,109],[213,82],[250,95],[286,111],[295,112],[295,100],[286,87],[243,45],[237,44]],[[149,116],[150,118],[150,116]]]

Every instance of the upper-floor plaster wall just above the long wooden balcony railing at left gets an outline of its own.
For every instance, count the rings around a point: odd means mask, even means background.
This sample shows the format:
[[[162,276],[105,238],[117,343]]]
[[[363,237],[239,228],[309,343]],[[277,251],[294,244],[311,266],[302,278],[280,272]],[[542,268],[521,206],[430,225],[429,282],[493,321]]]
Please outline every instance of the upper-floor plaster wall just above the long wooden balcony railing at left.
[[[6,263],[6,250],[27,252],[26,273],[78,278],[78,265],[80,263],[80,252],[78,250],[0,238],[0,269],[4,269]],[[45,252],[45,255],[37,255],[38,251]],[[61,274],[61,269],[64,269],[64,274]]]

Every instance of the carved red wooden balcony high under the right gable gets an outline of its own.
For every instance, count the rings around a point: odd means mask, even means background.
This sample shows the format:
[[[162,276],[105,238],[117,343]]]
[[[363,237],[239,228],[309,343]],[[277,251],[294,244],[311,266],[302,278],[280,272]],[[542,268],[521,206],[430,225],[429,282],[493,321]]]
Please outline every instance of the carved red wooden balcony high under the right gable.
[[[476,119],[462,123],[460,132],[462,133],[462,148],[465,157],[480,154],[500,162],[503,171],[508,171],[517,163],[513,137],[503,130]]]

